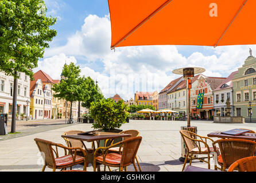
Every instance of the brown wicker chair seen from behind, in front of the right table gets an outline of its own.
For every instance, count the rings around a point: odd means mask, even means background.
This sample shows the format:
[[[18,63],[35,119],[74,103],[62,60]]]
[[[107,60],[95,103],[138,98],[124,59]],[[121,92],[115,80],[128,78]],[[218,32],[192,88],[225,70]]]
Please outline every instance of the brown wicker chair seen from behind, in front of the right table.
[[[218,156],[218,164],[221,168],[215,166],[216,169],[226,171],[235,161],[253,156],[256,148],[256,142],[241,139],[221,139],[212,143],[214,149],[216,144],[219,145],[220,155]]]

